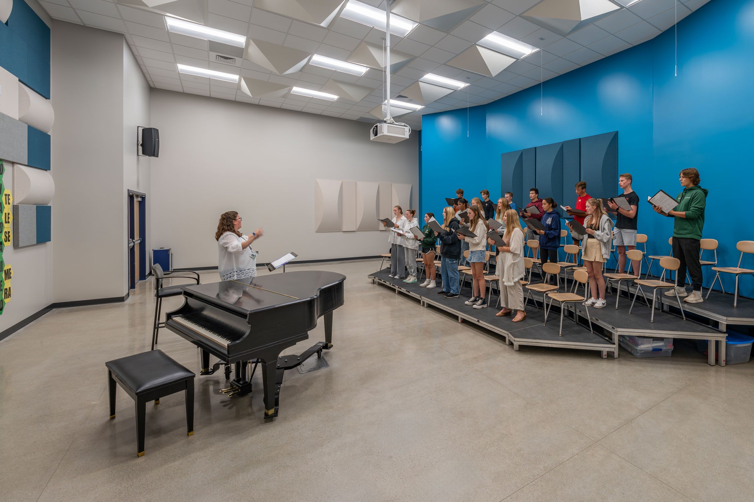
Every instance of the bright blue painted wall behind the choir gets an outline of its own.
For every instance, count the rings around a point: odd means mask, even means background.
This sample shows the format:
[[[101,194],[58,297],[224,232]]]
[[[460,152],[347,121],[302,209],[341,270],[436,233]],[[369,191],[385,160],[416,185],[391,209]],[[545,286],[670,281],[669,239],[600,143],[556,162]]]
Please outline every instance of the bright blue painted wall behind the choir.
[[[470,109],[468,124],[465,109],[425,115],[421,211],[437,212],[459,186],[499,197],[504,152],[617,130],[618,170],[633,174],[642,199],[659,188],[676,194],[679,170],[700,170],[701,186],[710,190],[704,237],[719,240],[723,266],[735,265],[735,243],[754,240],[754,233],[747,218],[718,208],[748,196],[754,0],[714,0],[682,20],[677,76],[674,31],[544,82],[542,102],[536,86]],[[672,219],[642,204],[639,231],[649,236],[649,253],[667,254]],[[754,268],[754,257],[742,266]],[[705,271],[705,285],[712,278]],[[732,289],[731,277],[725,286]],[[741,291],[754,295],[754,283],[743,279]]]

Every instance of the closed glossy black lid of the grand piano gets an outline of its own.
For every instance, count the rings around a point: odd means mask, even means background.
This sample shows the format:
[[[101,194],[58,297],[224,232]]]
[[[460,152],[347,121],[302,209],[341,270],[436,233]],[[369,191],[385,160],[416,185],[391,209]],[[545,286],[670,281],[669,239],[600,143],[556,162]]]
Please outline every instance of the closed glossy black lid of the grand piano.
[[[336,272],[292,271],[185,286],[182,289],[192,296],[247,315],[314,298],[319,294],[320,289],[344,280],[345,275]],[[246,286],[246,284],[256,287]]]

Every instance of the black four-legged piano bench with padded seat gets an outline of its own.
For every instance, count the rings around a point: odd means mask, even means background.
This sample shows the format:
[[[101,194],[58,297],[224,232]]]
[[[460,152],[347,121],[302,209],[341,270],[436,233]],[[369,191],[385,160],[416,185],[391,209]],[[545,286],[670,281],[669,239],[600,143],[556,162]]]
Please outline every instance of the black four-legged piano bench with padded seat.
[[[146,403],[185,391],[186,429],[194,433],[194,373],[176,363],[162,350],[149,350],[105,363],[110,394],[110,419],[115,418],[115,383],[136,402],[136,456],[144,455]]]

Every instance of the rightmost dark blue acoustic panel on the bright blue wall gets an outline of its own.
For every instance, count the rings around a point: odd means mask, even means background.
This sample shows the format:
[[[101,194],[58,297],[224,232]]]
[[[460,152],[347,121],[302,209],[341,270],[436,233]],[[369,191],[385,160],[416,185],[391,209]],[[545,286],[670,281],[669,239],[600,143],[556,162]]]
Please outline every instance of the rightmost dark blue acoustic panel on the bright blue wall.
[[[618,193],[618,131],[581,138],[581,179],[593,197]]]

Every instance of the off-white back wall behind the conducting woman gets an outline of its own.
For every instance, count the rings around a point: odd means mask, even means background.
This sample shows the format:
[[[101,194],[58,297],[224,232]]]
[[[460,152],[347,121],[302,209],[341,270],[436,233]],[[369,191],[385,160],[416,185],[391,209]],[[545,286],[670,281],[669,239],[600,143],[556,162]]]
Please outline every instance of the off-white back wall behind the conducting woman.
[[[244,233],[265,228],[257,262],[385,253],[382,231],[314,232],[314,179],[412,184],[418,204],[418,141],[369,141],[369,124],[152,89],[152,248],[173,265],[217,265],[219,215],[241,213]]]

